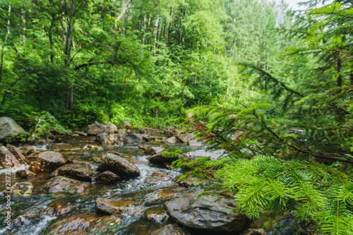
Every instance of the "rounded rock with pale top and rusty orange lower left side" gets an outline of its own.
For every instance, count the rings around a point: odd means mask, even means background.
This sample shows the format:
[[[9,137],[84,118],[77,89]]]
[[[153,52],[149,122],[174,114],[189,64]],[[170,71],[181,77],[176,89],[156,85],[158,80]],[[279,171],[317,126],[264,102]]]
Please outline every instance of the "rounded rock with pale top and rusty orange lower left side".
[[[66,160],[59,152],[40,152],[35,162],[30,163],[30,171],[35,173],[52,173],[52,171],[64,165],[65,162]]]

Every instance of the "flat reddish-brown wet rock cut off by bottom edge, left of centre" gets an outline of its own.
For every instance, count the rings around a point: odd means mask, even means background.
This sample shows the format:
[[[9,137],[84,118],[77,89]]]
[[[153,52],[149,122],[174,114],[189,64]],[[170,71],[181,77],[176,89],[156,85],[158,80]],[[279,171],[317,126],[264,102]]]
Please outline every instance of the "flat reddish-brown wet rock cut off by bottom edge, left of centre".
[[[86,235],[86,234],[117,234],[118,225],[121,223],[119,217],[111,215],[97,216],[90,214],[79,214],[59,219],[50,226],[44,234],[50,235]]]

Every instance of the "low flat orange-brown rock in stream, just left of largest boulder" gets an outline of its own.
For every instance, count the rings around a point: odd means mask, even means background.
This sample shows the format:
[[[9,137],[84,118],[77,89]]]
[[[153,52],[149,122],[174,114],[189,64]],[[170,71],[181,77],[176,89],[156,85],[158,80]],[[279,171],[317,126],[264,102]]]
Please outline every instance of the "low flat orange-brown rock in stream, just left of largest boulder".
[[[107,198],[97,198],[95,200],[95,210],[98,213],[127,216],[140,215],[143,208],[138,206],[138,202],[133,200],[112,200]]]

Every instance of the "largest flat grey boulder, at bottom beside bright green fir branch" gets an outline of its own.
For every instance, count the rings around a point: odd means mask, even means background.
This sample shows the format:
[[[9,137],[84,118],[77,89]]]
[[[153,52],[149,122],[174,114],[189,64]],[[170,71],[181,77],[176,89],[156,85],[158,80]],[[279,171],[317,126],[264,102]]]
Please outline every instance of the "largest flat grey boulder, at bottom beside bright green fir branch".
[[[239,232],[246,228],[246,215],[229,209],[235,207],[234,200],[215,200],[215,196],[189,195],[164,203],[164,209],[170,220],[193,229]]]

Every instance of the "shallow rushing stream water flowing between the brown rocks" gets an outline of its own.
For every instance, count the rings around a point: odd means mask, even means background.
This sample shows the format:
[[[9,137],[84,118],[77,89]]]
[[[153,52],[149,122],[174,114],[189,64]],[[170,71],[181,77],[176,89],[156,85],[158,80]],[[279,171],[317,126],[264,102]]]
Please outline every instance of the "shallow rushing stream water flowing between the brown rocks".
[[[95,200],[96,198],[110,198],[114,200],[133,200],[138,202],[138,206],[142,207],[142,212],[135,216],[123,216],[121,217],[121,223],[117,227],[112,227],[109,230],[110,234],[149,234],[150,231],[161,226],[160,223],[151,222],[145,219],[143,211],[150,207],[160,206],[163,203],[172,198],[158,199],[157,195],[161,191],[169,190],[174,192],[174,195],[183,196],[187,193],[200,192],[200,188],[184,188],[179,186],[173,181],[176,176],[181,173],[179,171],[172,171],[167,168],[163,168],[157,165],[152,165],[148,162],[148,155],[145,155],[143,150],[140,150],[138,146],[103,146],[103,150],[83,150],[83,146],[86,144],[96,145],[97,143],[92,142],[91,138],[86,137],[71,137],[66,139],[65,142],[71,143],[78,147],[76,150],[61,151],[61,154],[66,159],[77,159],[82,162],[90,164],[92,169],[97,169],[99,163],[95,162],[95,156],[102,156],[107,150],[114,150],[120,152],[124,156],[131,157],[132,162],[140,169],[140,176],[134,179],[128,179],[125,181],[119,181],[114,184],[102,184],[92,182],[88,189],[80,194],[51,194],[46,193],[42,186],[47,181],[48,174],[40,174],[35,179],[20,179],[16,177],[16,171],[18,169],[28,169],[28,165],[21,164],[17,169],[13,169],[11,172],[11,184],[16,182],[31,182],[33,184],[33,193],[29,196],[13,196],[11,201],[11,231],[8,231],[4,225],[4,219],[6,216],[6,200],[4,197],[0,198],[0,219],[1,227],[0,234],[51,234],[53,226],[57,227],[61,224],[61,227],[72,228],[65,218],[71,218],[75,215],[78,217],[97,217],[95,211]],[[172,145],[161,145],[168,150],[180,149],[183,152],[190,152],[194,150],[200,150],[204,147],[190,147],[184,144],[172,144]],[[19,146],[20,147],[20,146]],[[37,145],[35,146],[37,151],[52,150],[52,144]],[[97,158],[97,157],[96,157]],[[163,171],[164,174],[168,175],[167,181],[157,183],[145,183],[145,179],[148,178],[154,171]],[[5,190],[5,171],[0,170],[0,191]],[[50,212],[50,208],[53,207],[64,207],[67,208],[68,212],[60,217],[53,215]],[[62,222],[62,223],[61,223]],[[164,222],[165,223],[165,222]],[[79,231],[79,228],[78,228]],[[85,233],[85,232],[68,232],[67,234],[99,234],[97,232]],[[102,234],[107,234],[106,232]],[[193,234],[193,233],[192,233]]]

